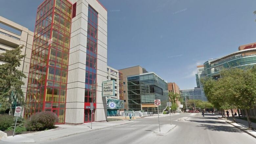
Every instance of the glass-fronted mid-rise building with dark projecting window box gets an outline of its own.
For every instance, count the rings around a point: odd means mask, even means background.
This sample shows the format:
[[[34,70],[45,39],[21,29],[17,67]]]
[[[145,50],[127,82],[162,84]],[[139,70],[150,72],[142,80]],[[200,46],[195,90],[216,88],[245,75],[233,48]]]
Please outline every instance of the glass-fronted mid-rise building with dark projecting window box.
[[[168,97],[168,84],[154,72],[127,76],[128,85],[128,109],[157,113],[154,105],[155,99],[160,99],[160,113],[166,108]]]

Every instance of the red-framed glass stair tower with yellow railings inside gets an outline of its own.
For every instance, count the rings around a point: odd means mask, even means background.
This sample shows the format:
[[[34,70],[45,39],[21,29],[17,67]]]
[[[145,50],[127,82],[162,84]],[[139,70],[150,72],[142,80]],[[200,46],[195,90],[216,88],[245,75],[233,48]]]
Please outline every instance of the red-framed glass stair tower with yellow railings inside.
[[[45,0],[37,9],[25,117],[52,111],[64,123],[72,4]]]

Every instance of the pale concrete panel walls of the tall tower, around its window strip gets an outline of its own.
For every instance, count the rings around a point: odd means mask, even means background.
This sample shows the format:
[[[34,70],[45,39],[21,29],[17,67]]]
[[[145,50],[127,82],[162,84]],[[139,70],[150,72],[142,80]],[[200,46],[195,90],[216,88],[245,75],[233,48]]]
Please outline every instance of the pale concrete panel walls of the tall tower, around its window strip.
[[[98,12],[95,121],[105,121],[107,101],[106,97],[102,97],[102,82],[107,80],[107,10],[96,0],[71,0],[71,2],[76,3],[76,16],[71,24],[65,123],[84,123],[89,5]]]

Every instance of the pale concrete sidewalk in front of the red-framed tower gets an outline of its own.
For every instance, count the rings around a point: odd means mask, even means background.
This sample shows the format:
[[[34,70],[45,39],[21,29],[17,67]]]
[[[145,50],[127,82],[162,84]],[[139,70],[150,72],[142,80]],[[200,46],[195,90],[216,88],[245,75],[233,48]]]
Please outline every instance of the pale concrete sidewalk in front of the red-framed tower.
[[[91,123],[85,123],[81,125],[56,125],[58,128],[41,131],[30,134],[20,134],[15,136],[8,136],[7,138],[1,139],[5,142],[21,143],[21,142],[41,142],[51,139],[57,139],[61,137],[70,136],[73,134],[79,134],[89,131],[100,130],[112,126],[123,125],[132,123],[133,121],[119,120],[111,122],[93,122],[93,128],[91,129]],[[0,140],[0,141],[1,141]]]

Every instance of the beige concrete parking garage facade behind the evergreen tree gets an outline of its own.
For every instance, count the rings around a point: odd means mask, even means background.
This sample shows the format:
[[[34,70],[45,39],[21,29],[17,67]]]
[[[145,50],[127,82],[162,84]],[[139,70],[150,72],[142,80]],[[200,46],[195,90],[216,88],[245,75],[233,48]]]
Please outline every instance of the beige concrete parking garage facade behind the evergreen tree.
[[[3,53],[7,50],[15,49],[19,46],[24,46],[23,49],[21,49],[22,51],[21,54],[26,54],[26,56],[24,59],[21,60],[20,62],[21,65],[17,69],[23,72],[27,77],[27,78],[22,78],[22,81],[25,84],[21,86],[24,96],[26,96],[34,33],[32,31],[29,31],[28,28],[25,28],[2,16],[0,16],[0,23],[2,25],[5,25],[6,27],[10,27],[11,29],[14,29],[20,32],[20,33],[14,33],[0,27],[0,53]],[[3,63],[5,62],[0,61],[0,64],[3,64]]]

